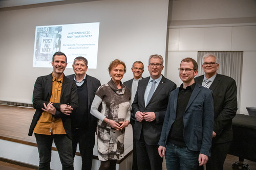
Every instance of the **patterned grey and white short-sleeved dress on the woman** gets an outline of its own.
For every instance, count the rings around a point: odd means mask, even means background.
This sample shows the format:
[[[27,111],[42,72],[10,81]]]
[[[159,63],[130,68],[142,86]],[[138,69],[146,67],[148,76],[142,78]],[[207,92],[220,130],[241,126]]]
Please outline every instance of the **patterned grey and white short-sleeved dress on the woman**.
[[[121,88],[118,89],[111,79],[107,84],[104,84],[96,91],[96,100],[94,99],[92,109],[102,104],[98,121],[98,157],[101,161],[120,160],[124,156],[124,131],[117,131],[109,124],[102,120],[104,117],[116,122],[130,121],[130,100],[131,92],[121,83]],[[101,100],[97,100],[97,99]],[[95,103],[96,107],[95,107]],[[91,111],[92,113],[92,111]],[[93,113],[92,113],[93,114]],[[95,114],[93,114],[95,115]],[[104,116],[103,116],[104,115]],[[102,118],[103,116],[103,118]]]

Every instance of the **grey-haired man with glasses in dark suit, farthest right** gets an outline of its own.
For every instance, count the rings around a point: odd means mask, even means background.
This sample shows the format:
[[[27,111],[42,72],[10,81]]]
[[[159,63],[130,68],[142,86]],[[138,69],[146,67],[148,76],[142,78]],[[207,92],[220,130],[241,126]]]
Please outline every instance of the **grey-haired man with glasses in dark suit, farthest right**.
[[[237,112],[236,82],[224,75],[217,74],[218,58],[212,54],[203,57],[202,69],[205,75],[195,78],[199,84],[214,93],[214,130],[212,132],[211,157],[206,169],[223,169],[228,149],[232,141],[232,118]],[[206,83],[208,82],[209,83]]]

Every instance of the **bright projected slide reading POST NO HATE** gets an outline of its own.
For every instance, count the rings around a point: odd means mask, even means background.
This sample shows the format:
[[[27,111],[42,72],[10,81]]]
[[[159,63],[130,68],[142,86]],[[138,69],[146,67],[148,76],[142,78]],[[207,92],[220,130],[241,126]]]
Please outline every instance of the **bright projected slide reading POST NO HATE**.
[[[52,56],[61,51],[68,59],[67,68],[72,68],[76,57],[88,60],[89,68],[96,68],[99,40],[99,22],[70,25],[37,26],[33,67],[52,67]]]

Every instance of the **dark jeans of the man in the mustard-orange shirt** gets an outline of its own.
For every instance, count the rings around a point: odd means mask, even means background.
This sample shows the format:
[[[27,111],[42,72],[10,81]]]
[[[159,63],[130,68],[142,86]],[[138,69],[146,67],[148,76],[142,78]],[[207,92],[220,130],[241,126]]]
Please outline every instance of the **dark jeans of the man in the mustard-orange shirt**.
[[[39,169],[51,169],[52,141],[58,150],[62,169],[74,169],[72,157],[72,141],[68,135],[41,135],[36,134],[36,143],[39,152]]]

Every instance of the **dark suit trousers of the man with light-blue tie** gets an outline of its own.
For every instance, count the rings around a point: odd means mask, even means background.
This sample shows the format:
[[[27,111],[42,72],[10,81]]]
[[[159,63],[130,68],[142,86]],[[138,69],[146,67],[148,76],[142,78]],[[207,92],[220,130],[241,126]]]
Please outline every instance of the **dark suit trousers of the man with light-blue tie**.
[[[161,170],[163,158],[158,154],[158,145],[149,145],[144,141],[143,133],[136,140],[137,164],[139,170]]]

